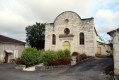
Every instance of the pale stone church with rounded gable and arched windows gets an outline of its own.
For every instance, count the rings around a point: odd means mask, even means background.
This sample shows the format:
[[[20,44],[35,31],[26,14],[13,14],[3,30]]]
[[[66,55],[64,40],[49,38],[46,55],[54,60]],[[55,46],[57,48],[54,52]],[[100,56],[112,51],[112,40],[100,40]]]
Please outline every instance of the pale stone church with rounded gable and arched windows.
[[[94,18],[81,19],[72,11],[59,14],[45,28],[45,50],[69,49],[89,56],[97,53],[97,33]]]

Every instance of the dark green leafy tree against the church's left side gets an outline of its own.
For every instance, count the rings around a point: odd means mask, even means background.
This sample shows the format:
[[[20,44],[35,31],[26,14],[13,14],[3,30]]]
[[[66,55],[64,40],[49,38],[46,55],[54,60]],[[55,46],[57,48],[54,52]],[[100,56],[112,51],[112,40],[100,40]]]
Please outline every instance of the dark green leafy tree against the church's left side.
[[[26,27],[26,42],[31,47],[44,49],[45,24],[37,23]]]

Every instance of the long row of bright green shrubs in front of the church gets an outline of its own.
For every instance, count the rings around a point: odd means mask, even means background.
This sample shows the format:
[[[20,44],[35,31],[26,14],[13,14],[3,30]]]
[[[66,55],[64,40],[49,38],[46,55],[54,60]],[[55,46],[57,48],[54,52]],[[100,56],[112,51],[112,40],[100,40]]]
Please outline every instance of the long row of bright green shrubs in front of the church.
[[[33,66],[39,63],[44,63],[48,65],[49,62],[57,60],[62,57],[68,57],[70,55],[69,50],[37,50],[36,48],[27,47],[22,52],[22,64],[28,66]]]

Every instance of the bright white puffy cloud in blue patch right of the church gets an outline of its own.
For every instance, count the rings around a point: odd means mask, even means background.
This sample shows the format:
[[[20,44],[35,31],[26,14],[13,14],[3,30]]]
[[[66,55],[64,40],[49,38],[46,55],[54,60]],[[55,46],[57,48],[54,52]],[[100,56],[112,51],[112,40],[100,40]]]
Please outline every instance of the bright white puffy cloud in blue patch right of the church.
[[[97,30],[100,33],[105,33],[119,27],[119,11],[112,11],[110,9],[98,10],[96,18],[103,21],[100,26],[97,25]]]

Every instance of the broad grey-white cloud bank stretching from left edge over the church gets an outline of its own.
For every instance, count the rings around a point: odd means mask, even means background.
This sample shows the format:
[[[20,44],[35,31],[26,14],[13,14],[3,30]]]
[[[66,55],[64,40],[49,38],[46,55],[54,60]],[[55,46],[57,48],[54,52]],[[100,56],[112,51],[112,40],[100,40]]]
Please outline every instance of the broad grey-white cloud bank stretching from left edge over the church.
[[[94,7],[92,1],[85,3],[86,0],[0,0],[0,34],[25,40],[26,26],[35,22],[52,23],[63,11],[90,16]]]

